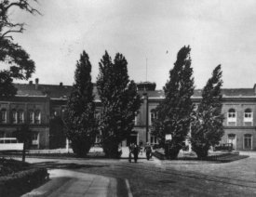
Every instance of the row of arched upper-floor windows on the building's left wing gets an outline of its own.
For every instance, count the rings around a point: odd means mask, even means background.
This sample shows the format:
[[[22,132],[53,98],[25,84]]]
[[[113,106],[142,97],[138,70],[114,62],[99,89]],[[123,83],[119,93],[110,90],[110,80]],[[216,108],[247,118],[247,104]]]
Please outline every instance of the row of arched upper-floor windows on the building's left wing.
[[[24,119],[24,111],[13,109],[10,112],[10,123],[11,124],[23,124],[25,122]],[[41,112],[39,110],[28,112],[28,122],[29,124],[41,124]],[[0,123],[7,124],[7,110],[1,110]]]

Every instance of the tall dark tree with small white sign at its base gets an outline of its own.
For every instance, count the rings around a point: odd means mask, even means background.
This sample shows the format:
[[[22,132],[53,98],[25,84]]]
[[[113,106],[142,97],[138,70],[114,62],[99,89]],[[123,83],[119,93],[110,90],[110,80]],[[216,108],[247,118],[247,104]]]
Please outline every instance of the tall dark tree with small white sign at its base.
[[[165,99],[156,108],[154,134],[165,145],[165,136],[171,134],[172,140],[165,146],[170,159],[177,158],[182,149],[182,142],[187,137],[193,112],[191,96],[194,93],[190,47],[183,46],[178,52],[174,67],[169,72],[169,80],[164,86]]]

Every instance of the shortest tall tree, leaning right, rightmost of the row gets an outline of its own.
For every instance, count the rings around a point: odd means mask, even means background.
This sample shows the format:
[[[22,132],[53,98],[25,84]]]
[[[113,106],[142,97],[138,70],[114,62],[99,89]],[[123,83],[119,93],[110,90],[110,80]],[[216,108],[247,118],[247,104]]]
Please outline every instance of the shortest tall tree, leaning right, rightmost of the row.
[[[224,134],[221,87],[222,67],[219,65],[202,91],[202,100],[191,126],[192,150],[198,158],[207,157],[210,146],[218,144]]]

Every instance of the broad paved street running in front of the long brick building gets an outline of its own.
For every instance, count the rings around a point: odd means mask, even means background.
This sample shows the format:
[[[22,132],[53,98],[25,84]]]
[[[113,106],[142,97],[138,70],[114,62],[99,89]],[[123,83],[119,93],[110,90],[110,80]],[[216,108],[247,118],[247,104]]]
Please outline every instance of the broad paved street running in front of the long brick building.
[[[256,196],[255,153],[224,164],[156,158],[150,161],[142,158],[137,164],[128,163],[128,159],[27,158],[27,161],[53,169],[49,171],[50,181],[66,178],[49,196],[65,196],[67,192],[71,192],[70,196]],[[101,191],[91,193],[90,185],[91,189],[98,187]]]

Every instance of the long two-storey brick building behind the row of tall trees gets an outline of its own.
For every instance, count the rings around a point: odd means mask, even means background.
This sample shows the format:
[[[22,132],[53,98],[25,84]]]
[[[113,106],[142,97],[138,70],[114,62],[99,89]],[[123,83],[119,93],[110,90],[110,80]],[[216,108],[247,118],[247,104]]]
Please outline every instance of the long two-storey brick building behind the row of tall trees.
[[[36,79],[29,84],[15,84],[18,89],[13,99],[0,100],[0,138],[13,137],[13,132],[24,123],[33,131],[33,149],[65,147],[61,118],[65,112],[71,85],[41,85]],[[140,83],[138,90],[143,100],[135,118],[135,127],[130,138],[123,142],[146,141],[157,143],[151,135],[155,108],[164,99],[163,90],[155,90],[155,84]],[[101,100],[94,88],[97,112],[101,112]],[[192,97],[195,105],[201,99],[201,90]],[[223,143],[233,143],[238,151],[256,151],[256,86],[251,88],[222,89],[222,112],[224,114]],[[58,121],[59,120],[59,121]],[[99,142],[99,138],[96,139]]]

